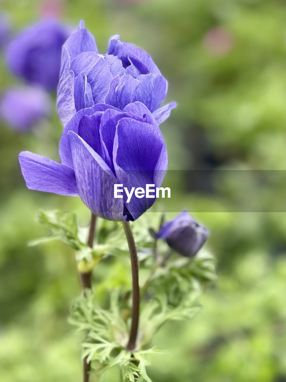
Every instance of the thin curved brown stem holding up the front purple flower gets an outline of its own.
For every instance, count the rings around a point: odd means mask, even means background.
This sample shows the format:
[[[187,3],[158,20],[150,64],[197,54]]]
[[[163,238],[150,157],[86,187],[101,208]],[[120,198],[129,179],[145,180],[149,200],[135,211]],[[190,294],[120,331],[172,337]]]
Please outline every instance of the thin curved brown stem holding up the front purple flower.
[[[138,275],[138,259],[136,245],[133,238],[133,233],[129,222],[122,222],[127,243],[130,252],[131,270],[132,270],[132,322],[127,350],[134,350],[136,347],[136,338],[139,323],[139,304],[140,304],[140,291],[139,291],[139,275]]]

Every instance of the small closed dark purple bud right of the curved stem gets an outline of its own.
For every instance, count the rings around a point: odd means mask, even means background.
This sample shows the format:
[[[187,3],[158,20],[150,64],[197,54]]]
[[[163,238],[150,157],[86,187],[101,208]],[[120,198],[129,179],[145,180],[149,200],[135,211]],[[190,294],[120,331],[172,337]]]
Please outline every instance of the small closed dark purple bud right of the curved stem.
[[[158,238],[165,238],[172,249],[186,257],[195,256],[208,236],[207,228],[197,223],[187,211],[164,224],[157,235]]]

